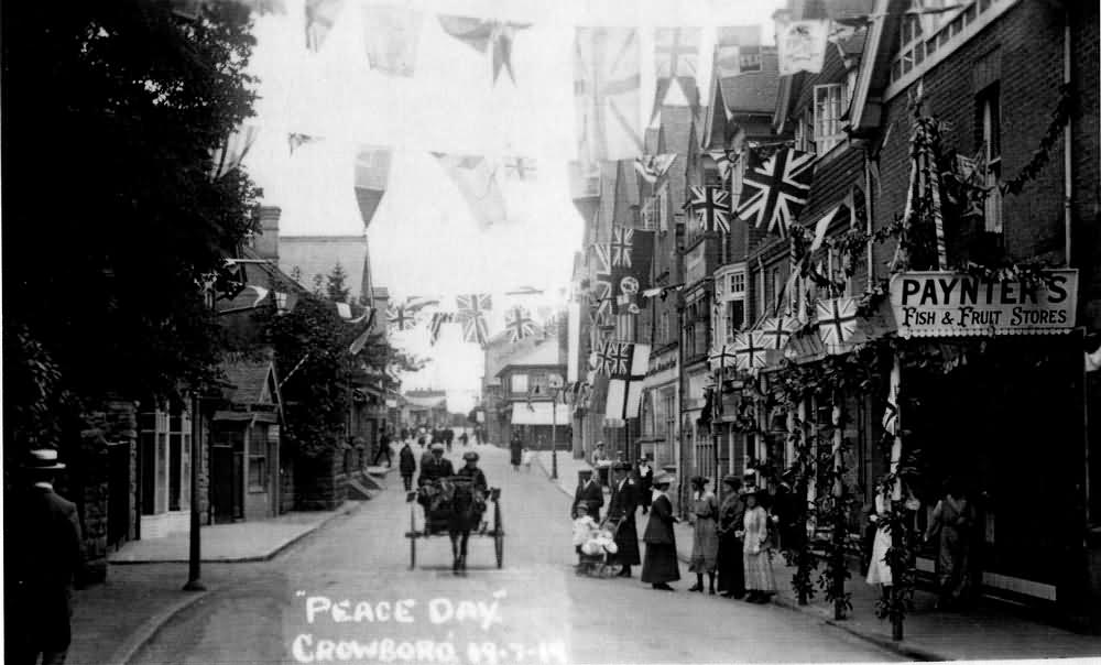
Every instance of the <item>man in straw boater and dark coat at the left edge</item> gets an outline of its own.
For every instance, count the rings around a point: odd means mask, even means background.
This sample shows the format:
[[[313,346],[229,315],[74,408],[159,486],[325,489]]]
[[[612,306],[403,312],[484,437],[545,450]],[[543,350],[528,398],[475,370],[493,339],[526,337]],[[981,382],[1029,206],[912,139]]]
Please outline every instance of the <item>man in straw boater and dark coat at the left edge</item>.
[[[6,535],[13,590],[7,604],[9,656],[14,663],[64,663],[72,642],[73,579],[83,562],[76,506],[61,498],[54,476],[65,468],[53,449],[32,450],[23,466],[28,486]]]

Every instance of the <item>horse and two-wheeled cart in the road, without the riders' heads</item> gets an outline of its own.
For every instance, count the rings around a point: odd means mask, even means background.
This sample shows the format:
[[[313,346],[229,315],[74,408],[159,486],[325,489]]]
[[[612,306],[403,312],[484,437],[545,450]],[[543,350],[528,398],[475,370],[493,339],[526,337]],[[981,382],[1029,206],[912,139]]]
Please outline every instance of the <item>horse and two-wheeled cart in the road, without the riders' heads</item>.
[[[405,497],[410,504],[410,530],[405,537],[410,539],[410,569],[416,567],[416,542],[419,538],[448,535],[451,539],[454,557],[451,569],[458,571],[467,567],[467,539],[471,535],[493,538],[493,549],[497,554],[497,567],[504,565],[504,526],[501,524],[501,490],[489,488],[484,497],[473,488],[470,478],[451,476],[440,478],[418,491],[408,492]],[[493,504],[492,528],[484,519],[486,503]],[[417,510],[414,505],[424,506],[424,527],[416,527]],[[479,506],[482,510],[479,510]]]

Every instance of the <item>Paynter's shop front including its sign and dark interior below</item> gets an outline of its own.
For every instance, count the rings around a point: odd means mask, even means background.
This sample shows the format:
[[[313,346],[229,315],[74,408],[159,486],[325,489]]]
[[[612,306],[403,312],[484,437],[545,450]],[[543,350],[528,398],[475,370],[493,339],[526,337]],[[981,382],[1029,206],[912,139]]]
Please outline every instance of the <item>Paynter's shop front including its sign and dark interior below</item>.
[[[985,595],[1079,611],[1089,597],[1084,368],[1077,272],[1029,282],[895,275],[903,445],[925,530],[944,486],[975,510],[972,579]],[[936,553],[918,569],[931,574]]]

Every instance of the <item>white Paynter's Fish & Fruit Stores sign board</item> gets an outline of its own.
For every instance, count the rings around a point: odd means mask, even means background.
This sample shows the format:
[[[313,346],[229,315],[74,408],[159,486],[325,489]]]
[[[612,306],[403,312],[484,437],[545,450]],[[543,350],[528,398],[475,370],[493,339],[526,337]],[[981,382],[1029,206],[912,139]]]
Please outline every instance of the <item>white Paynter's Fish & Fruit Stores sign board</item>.
[[[891,279],[891,308],[902,337],[1042,335],[1073,328],[1077,270],[1046,272],[1045,284],[985,281],[956,272],[907,272]]]

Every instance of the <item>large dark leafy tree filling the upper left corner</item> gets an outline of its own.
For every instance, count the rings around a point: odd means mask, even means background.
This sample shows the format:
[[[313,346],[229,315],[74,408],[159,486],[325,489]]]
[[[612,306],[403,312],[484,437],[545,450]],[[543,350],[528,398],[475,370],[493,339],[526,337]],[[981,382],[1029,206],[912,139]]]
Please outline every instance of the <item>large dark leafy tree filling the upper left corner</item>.
[[[4,170],[4,347],[11,379],[32,388],[8,392],[4,434],[40,435],[43,417],[109,394],[209,385],[218,327],[200,285],[255,226],[248,176],[211,176],[252,115],[248,9],[4,9],[18,165]]]

